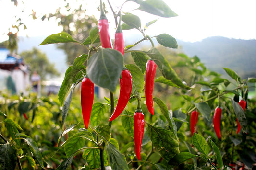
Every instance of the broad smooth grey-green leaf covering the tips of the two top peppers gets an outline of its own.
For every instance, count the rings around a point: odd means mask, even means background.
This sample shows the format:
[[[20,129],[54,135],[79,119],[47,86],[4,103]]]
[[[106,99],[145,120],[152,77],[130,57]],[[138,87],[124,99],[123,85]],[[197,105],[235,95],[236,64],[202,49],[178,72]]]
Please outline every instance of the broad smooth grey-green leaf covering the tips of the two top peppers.
[[[90,80],[100,87],[114,92],[123,68],[123,56],[117,50],[99,50],[88,60],[87,74]]]

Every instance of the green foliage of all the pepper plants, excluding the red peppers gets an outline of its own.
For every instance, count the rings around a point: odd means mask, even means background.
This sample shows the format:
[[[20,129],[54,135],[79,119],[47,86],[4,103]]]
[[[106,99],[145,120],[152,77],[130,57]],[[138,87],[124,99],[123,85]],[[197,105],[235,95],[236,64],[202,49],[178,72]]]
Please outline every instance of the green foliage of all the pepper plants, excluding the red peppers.
[[[127,1],[139,4],[138,10],[160,17],[177,16],[161,0]],[[170,170],[177,167],[179,169],[213,168],[217,170],[218,168],[229,169],[227,165],[231,163],[230,160],[239,160],[250,168],[254,158],[250,153],[245,153],[243,150],[248,149],[251,146],[250,143],[256,143],[253,137],[246,138],[246,136],[250,136],[250,132],[255,132],[255,128],[248,126],[249,123],[255,125],[255,114],[253,114],[255,112],[255,101],[248,99],[248,83],[255,83],[256,79],[241,80],[240,76],[233,70],[224,68],[227,75],[235,82],[230,87],[231,80],[223,79],[219,74],[207,70],[198,57],[190,58],[184,54],[179,54],[177,57],[180,57],[181,60],[176,63],[175,67],[188,69],[192,72],[191,77],[186,79],[187,83],[185,83],[171,67],[168,58],[161,53],[166,48],[178,47],[175,38],[169,34],[159,34],[151,37],[146,34],[146,29],[157,23],[157,20],[150,21],[142,26],[139,16],[122,11],[125,3],[117,11],[114,11],[111,3],[108,3],[108,5],[111,7],[116,25],[118,25],[118,19],[122,19],[119,22],[122,22],[122,29],[127,30],[125,34],[129,34],[130,29],[136,29],[142,34],[140,41],[125,47],[125,55],[130,54],[133,59],[132,63],[125,65],[125,68],[132,75],[133,85],[127,109],[122,112],[121,119],[117,118],[109,122],[115,107],[113,96],[117,91],[118,80],[124,65],[122,54],[115,49],[101,47],[97,27],[90,30],[85,42],[78,42],[65,32],[52,34],[40,45],[73,42],[87,48],[89,50],[88,54],[81,54],[81,56],[76,57],[73,65],[66,70],[58,94],[60,105],[46,99],[43,101],[36,100],[36,102],[26,99],[16,104],[19,106],[18,109],[20,108],[21,115],[33,110],[33,117],[37,111],[38,103],[48,103],[52,107],[54,105],[62,106],[62,110],[55,113],[57,114],[55,116],[57,117],[56,124],[61,124],[58,115],[61,113],[62,116],[61,135],[57,133],[58,139],[56,140],[58,148],[55,148],[55,152],[51,156],[47,151],[41,154],[36,141],[32,137],[20,133],[23,128],[12,121],[5,113],[0,112],[0,116],[3,117],[3,121],[0,123],[5,125],[4,127],[8,131],[7,134],[10,136],[10,140],[8,140],[0,134],[5,142],[5,144],[0,144],[0,155],[5,156],[0,157],[0,165],[13,162],[21,166],[21,158],[26,157],[32,168],[35,168],[36,164],[42,168],[46,166],[53,168],[54,162],[58,165],[58,170],[68,169],[71,164],[76,166],[77,169],[104,170],[111,167],[112,170],[129,170],[150,166],[151,169],[157,170]],[[120,13],[122,13],[122,16],[120,16]],[[153,38],[156,38],[163,48],[156,48]],[[148,50],[134,50],[133,47],[142,41],[150,41],[151,47]],[[173,96],[183,100],[178,107],[172,105],[170,110],[168,103],[165,101],[166,97],[161,99],[154,97],[154,115],[151,115],[143,104],[145,102],[144,74],[146,72],[146,62],[149,58],[157,64],[158,74],[161,74],[155,79],[155,82],[162,86],[171,87],[176,91]],[[68,125],[66,121],[71,116],[70,112],[72,112],[70,107],[72,106],[73,91],[85,75],[94,84],[110,92],[110,99],[105,97],[104,102],[93,104],[88,129],[85,129],[81,122]],[[210,81],[205,81],[205,78],[210,79]],[[195,97],[194,94],[198,91],[198,88],[201,91],[201,96]],[[234,99],[232,99],[233,96],[235,96]],[[237,101],[237,97],[239,99],[240,96],[247,102],[245,112]],[[142,140],[141,160],[138,160],[135,155],[133,141],[134,112],[137,102],[142,103],[141,109],[145,115],[146,125]],[[10,108],[15,106],[15,104],[10,105]],[[222,117],[224,119],[221,120],[223,122],[221,132],[223,133],[222,139],[225,142],[222,144],[215,135],[212,126],[214,109],[218,105],[223,108]],[[200,114],[195,129],[196,133],[192,134],[191,137],[191,134],[187,134],[185,131],[189,132],[187,128],[190,125],[189,116],[194,110],[199,111]],[[82,113],[79,113],[79,115],[82,117]],[[237,126],[236,118],[242,128],[239,134],[236,134],[235,130]],[[125,132],[115,130],[115,126],[121,125],[119,120],[121,120]],[[129,138],[129,141],[124,140],[127,138]],[[120,150],[119,146],[121,145],[122,149]],[[40,145],[40,147],[43,147],[43,145]],[[232,152],[232,154],[225,153],[225,151],[234,147],[237,147],[238,151]],[[60,160],[57,159],[58,154],[61,155]],[[75,159],[80,157],[84,162],[74,163]],[[250,160],[244,160],[244,158]],[[22,161],[24,162],[24,160]],[[6,169],[14,168],[13,165],[8,165]]]

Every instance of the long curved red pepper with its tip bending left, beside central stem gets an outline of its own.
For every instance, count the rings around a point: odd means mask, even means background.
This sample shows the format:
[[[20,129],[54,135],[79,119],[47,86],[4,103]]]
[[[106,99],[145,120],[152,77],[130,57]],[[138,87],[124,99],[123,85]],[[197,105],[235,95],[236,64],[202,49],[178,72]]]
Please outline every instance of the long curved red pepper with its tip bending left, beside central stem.
[[[120,94],[117,101],[114,113],[110,117],[110,122],[117,118],[127,105],[133,87],[132,75],[128,69],[125,69],[121,73],[122,79],[120,78]]]

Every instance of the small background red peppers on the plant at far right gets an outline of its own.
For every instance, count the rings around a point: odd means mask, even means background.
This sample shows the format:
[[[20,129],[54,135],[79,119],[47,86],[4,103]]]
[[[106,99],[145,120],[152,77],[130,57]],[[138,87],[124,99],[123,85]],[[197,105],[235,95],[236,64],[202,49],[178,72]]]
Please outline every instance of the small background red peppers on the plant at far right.
[[[246,101],[244,99],[242,99],[238,102],[238,104],[245,111]],[[214,126],[214,131],[216,133],[216,136],[218,137],[219,140],[221,140],[221,130],[220,130],[221,113],[222,113],[222,109],[219,106],[217,106],[214,111],[214,115],[213,115],[213,126]],[[191,117],[190,117],[191,136],[193,136],[193,133],[195,132],[195,125],[197,123],[198,114],[199,114],[199,112],[196,112],[196,111],[192,111],[192,113],[191,113]],[[239,121],[237,118],[236,118],[236,120],[237,120],[237,132],[236,133],[238,134],[241,130],[241,125],[239,124]]]

